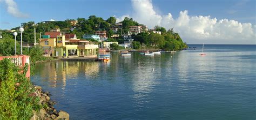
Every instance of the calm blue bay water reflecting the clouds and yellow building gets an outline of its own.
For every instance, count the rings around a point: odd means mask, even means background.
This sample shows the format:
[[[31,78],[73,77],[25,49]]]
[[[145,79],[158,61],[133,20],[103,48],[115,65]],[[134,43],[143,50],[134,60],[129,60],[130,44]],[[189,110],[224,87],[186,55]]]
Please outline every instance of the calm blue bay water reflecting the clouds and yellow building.
[[[256,46],[205,45],[111,62],[45,62],[31,81],[71,119],[255,119]],[[154,69],[154,71],[152,71]]]

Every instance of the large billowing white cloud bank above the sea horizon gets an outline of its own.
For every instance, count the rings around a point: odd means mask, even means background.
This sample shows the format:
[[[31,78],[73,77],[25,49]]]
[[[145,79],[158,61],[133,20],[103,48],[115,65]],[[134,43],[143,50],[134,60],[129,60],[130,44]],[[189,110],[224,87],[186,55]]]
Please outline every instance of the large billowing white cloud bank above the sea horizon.
[[[166,29],[174,28],[187,43],[256,44],[255,25],[236,20],[211,18],[211,16],[189,16],[188,11],[180,11],[178,18],[171,13],[160,15],[151,0],[131,0],[134,12],[131,17],[153,28],[156,25]],[[126,15],[127,16],[127,15]],[[118,18],[120,21],[123,18]]]

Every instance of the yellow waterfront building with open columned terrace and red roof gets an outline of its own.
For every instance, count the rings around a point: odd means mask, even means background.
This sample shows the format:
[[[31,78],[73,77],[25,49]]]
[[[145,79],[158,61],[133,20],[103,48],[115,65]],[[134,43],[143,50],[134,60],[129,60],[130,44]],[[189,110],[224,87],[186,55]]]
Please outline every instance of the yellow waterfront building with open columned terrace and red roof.
[[[66,39],[66,36],[60,32],[46,32],[43,38],[39,39],[39,44],[43,47],[45,54],[53,57],[68,57],[74,54],[83,57],[97,57],[98,44],[73,38]]]

